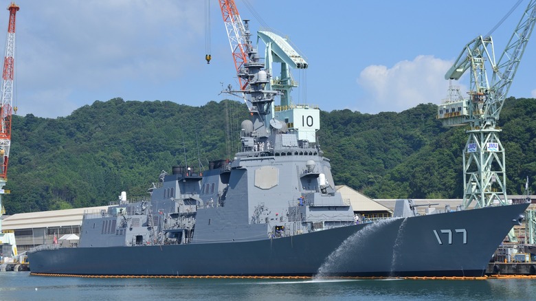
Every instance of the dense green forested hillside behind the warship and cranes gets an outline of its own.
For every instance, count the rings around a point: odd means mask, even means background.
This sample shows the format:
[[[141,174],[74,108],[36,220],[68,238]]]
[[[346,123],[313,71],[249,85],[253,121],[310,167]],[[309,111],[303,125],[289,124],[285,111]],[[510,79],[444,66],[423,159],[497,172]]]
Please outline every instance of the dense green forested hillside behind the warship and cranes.
[[[318,140],[336,183],[373,198],[462,197],[466,128],[443,128],[436,109],[322,111]],[[501,114],[509,194],[521,194],[526,177],[536,175],[533,116],[534,99],[511,98]],[[245,104],[231,100],[189,107],[121,98],[96,101],[66,118],[15,115],[5,187],[12,193],[3,205],[14,214],[105,205],[121,191],[145,196],[161,170],[185,161],[208,168],[208,161],[232,157],[247,117]]]

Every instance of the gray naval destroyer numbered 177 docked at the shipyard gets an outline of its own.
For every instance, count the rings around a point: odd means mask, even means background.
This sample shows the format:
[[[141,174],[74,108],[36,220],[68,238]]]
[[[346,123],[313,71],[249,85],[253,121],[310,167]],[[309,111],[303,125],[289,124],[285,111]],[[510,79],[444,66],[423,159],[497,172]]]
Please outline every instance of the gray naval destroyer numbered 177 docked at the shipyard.
[[[87,212],[78,247],[28,252],[32,274],[484,274],[528,203],[418,215],[401,200],[390,219],[356,220],[335,190],[330,160],[289,129],[284,110],[275,113],[270,74],[251,45],[248,54],[239,76],[249,84],[241,92],[250,96],[251,120],[242,123],[241,151],[202,172],[162,172],[147,199],[122,194],[108,210]]]

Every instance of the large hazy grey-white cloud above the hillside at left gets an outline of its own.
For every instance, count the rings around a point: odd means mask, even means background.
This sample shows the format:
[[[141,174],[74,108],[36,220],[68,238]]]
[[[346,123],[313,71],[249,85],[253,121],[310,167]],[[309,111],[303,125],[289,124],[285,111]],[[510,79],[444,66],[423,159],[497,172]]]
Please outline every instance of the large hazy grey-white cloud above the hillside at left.
[[[192,57],[201,57],[199,1],[18,4],[19,112],[55,118],[98,99],[154,99],[156,87],[188,76]]]

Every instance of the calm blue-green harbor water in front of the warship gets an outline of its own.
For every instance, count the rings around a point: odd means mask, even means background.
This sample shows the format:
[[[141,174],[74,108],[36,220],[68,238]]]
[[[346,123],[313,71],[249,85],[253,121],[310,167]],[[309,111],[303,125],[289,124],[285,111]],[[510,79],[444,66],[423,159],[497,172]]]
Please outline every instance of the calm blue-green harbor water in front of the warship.
[[[534,300],[536,279],[74,278],[0,273],[0,300]]]

